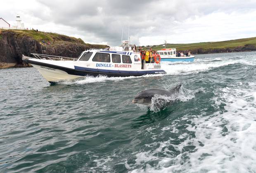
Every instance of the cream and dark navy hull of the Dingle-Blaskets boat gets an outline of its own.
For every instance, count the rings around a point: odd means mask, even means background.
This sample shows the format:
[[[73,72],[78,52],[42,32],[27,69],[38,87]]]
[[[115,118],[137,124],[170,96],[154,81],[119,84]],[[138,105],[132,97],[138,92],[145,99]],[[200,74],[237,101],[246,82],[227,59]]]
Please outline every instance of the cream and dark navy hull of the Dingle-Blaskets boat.
[[[43,62],[33,61],[30,59],[25,60],[25,62],[34,66],[39,71],[39,73],[50,83],[72,80],[84,76],[127,77],[166,73],[164,70],[119,71],[106,69],[92,69],[81,66],[74,66],[74,69],[71,69],[64,66],[47,64]]]

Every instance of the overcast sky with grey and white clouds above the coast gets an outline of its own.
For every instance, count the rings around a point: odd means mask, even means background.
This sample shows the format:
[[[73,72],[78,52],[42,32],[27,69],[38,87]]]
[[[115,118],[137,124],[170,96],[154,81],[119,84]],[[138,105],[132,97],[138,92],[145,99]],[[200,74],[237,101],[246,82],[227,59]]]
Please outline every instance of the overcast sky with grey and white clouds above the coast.
[[[1,0],[15,25],[82,38],[86,43],[197,43],[256,37],[256,0]]]

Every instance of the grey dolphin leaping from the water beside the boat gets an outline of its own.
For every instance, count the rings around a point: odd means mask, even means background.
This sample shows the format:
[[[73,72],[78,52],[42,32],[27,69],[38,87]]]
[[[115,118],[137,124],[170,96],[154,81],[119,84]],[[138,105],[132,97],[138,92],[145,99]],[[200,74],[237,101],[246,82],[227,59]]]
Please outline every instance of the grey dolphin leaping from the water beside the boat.
[[[181,84],[175,86],[171,90],[148,89],[148,90],[141,91],[134,97],[133,103],[150,106],[152,104],[151,100],[154,97],[154,95],[162,95],[162,96],[170,97],[178,93],[180,91],[180,87],[181,87]]]

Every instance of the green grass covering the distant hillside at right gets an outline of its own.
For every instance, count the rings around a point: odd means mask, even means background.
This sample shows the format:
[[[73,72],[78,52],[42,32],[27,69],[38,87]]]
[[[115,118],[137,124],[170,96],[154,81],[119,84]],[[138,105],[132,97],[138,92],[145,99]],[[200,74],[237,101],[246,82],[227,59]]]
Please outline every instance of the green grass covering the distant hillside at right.
[[[167,43],[166,48],[176,48],[177,50],[196,50],[196,49],[209,50],[209,49],[220,49],[220,48],[243,47],[244,45],[256,46],[256,37],[242,38],[242,39],[228,40],[228,41],[202,42],[202,43],[190,43],[190,44]],[[163,45],[152,46],[153,50],[161,50],[163,48],[164,48]]]

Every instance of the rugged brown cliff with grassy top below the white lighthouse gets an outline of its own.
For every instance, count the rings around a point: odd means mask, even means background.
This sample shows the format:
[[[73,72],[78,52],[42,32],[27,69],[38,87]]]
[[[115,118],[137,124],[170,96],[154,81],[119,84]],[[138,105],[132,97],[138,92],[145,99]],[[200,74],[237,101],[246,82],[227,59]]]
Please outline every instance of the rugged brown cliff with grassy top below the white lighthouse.
[[[106,47],[56,33],[0,29],[0,68],[27,66],[22,63],[22,54],[31,56],[31,53],[39,53],[76,58],[87,49]]]

